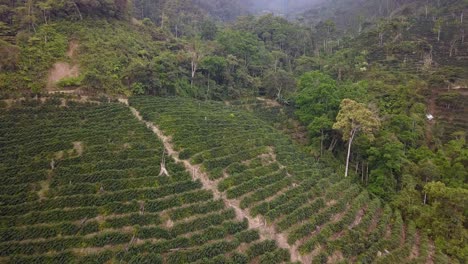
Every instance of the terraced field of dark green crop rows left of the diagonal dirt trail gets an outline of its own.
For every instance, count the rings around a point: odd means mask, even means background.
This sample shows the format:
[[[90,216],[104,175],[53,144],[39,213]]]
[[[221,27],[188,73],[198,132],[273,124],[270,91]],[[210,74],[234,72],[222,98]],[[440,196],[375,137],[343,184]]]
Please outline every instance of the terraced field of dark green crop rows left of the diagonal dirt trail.
[[[0,263],[289,260],[164,152],[122,104],[1,109]]]

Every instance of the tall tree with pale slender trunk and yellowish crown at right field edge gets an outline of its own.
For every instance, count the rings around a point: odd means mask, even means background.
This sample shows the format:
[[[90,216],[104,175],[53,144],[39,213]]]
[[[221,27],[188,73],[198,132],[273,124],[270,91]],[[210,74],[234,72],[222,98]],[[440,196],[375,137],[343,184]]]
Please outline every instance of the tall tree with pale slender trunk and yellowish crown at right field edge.
[[[348,177],[351,146],[356,135],[363,132],[370,140],[373,140],[373,133],[379,127],[379,118],[364,105],[351,99],[344,99],[341,102],[340,112],[338,112],[333,129],[340,130],[343,133],[343,140],[348,141],[345,177]]]

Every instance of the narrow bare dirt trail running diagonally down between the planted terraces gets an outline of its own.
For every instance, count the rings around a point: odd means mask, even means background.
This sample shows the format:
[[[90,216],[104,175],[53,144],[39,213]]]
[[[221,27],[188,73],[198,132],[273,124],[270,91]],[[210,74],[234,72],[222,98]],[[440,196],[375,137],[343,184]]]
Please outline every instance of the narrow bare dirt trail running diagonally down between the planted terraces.
[[[290,246],[287,242],[287,237],[283,233],[278,233],[272,225],[267,225],[266,220],[263,217],[252,217],[247,210],[240,208],[239,201],[228,199],[225,194],[218,190],[216,183],[209,179],[208,175],[201,170],[199,165],[193,165],[188,160],[179,159],[179,153],[174,150],[170,137],[164,135],[164,133],[152,122],[144,120],[140,112],[129,105],[127,99],[121,98],[119,99],[119,102],[125,104],[140,122],[144,123],[153,131],[154,134],[159,137],[159,139],[161,139],[167,154],[170,155],[176,162],[183,164],[185,169],[191,174],[194,180],[200,180],[204,189],[213,192],[215,199],[221,199],[224,201],[226,206],[233,208],[236,212],[236,218],[238,220],[243,220],[244,218],[247,219],[249,228],[257,229],[259,231],[261,240],[275,240],[279,247],[287,249],[290,252],[292,262],[299,261],[301,263],[305,263],[301,254],[299,253],[299,250],[297,249],[297,246]]]

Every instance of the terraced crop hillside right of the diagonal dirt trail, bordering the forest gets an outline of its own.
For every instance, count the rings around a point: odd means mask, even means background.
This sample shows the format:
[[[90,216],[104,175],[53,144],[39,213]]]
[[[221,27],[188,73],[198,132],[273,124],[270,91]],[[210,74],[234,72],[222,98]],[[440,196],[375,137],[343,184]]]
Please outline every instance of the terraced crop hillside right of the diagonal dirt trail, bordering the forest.
[[[324,168],[290,138],[236,107],[182,98],[131,98],[185,162],[227,203],[302,263],[446,263],[398,211]],[[286,242],[287,246],[282,243]]]

